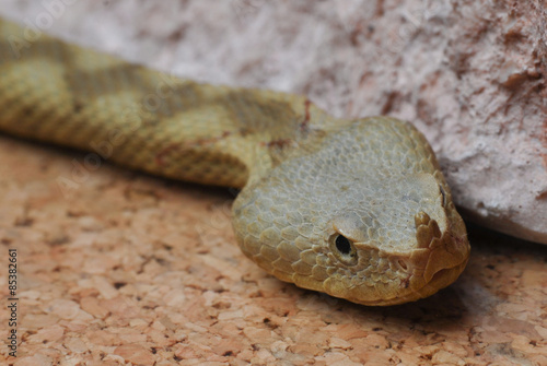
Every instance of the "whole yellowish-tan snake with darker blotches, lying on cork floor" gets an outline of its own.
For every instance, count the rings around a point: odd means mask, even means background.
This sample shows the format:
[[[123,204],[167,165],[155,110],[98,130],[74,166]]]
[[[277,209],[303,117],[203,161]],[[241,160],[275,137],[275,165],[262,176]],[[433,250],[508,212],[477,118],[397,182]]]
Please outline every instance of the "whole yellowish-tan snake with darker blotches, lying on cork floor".
[[[28,24],[1,20],[0,34],[0,131],[238,189],[236,241],[277,279],[386,306],[430,296],[465,269],[465,224],[411,123],[197,83]]]

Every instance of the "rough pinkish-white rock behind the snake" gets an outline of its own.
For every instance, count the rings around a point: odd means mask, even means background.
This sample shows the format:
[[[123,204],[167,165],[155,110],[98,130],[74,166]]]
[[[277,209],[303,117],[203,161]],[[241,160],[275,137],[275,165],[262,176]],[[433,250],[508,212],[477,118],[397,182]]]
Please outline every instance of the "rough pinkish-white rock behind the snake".
[[[14,19],[183,76],[409,120],[465,216],[547,244],[540,0],[3,2]]]

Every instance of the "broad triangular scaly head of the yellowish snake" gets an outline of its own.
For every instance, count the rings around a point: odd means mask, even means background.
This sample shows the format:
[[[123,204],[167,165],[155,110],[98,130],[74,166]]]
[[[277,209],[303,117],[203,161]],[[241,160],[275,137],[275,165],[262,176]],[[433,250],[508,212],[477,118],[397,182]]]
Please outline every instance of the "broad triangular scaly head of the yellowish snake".
[[[364,305],[453,283],[469,244],[426,139],[392,118],[357,121],[240,193],[245,255],[278,279]]]

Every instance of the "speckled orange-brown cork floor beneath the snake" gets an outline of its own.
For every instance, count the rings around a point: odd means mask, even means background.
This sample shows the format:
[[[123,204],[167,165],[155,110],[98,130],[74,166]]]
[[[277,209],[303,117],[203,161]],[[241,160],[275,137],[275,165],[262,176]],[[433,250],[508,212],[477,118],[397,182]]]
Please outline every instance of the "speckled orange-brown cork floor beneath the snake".
[[[85,156],[0,135],[2,365],[547,365],[545,246],[473,227],[457,283],[368,308],[247,260],[228,190],[82,170]]]

